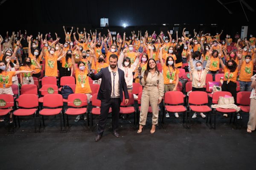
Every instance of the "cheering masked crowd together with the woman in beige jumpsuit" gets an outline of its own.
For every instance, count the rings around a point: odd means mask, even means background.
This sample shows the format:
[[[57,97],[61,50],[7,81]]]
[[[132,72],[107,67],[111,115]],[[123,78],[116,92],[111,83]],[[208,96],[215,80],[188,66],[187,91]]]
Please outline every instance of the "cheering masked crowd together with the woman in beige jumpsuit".
[[[213,81],[219,70],[224,72],[222,91],[229,91],[236,101],[237,82],[240,91],[252,91],[251,105],[256,105],[255,77],[253,68],[256,62],[256,38],[223,36],[222,32],[214,36],[194,30],[194,35],[174,36],[169,31],[157,35],[138,31],[111,35],[101,32],[87,33],[85,28],[76,32],[66,30],[63,26],[65,39],[61,40],[55,33],[27,35],[18,31],[8,32],[6,37],[0,37],[0,94],[12,94],[12,84],[34,84],[33,77],[41,77],[41,63],[45,61],[44,75],[47,77],[75,76],[76,91],[87,95],[90,102],[90,85],[88,72],[97,74],[102,68],[111,67],[110,57],[117,56],[117,66],[124,72],[128,92],[133,91],[133,82],[143,86],[140,111],[140,127],[142,132],[146,123],[148,107],[152,108],[152,128],[158,123],[159,104],[167,91],[177,91],[179,68],[188,65],[188,77],[192,82],[192,91],[205,91],[207,74]],[[158,64],[159,63],[159,64]],[[90,67],[89,67],[90,65]],[[158,68],[161,66],[161,69]],[[20,74],[20,82],[17,74]],[[101,79],[93,83],[101,84]],[[136,97],[136,96],[135,96]],[[255,116],[256,111],[250,111]],[[206,116],[200,113],[202,118]],[[169,118],[169,114],[165,115]],[[178,118],[178,113],[175,113]],[[192,118],[196,118],[194,113]],[[79,121],[80,117],[76,118]],[[12,122],[12,115],[10,115]],[[0,122],[3,122],[3,117]],[[249,126],[250,125],[250,126]],[[248,132],[255,130],[256,120],[250,119]]]

